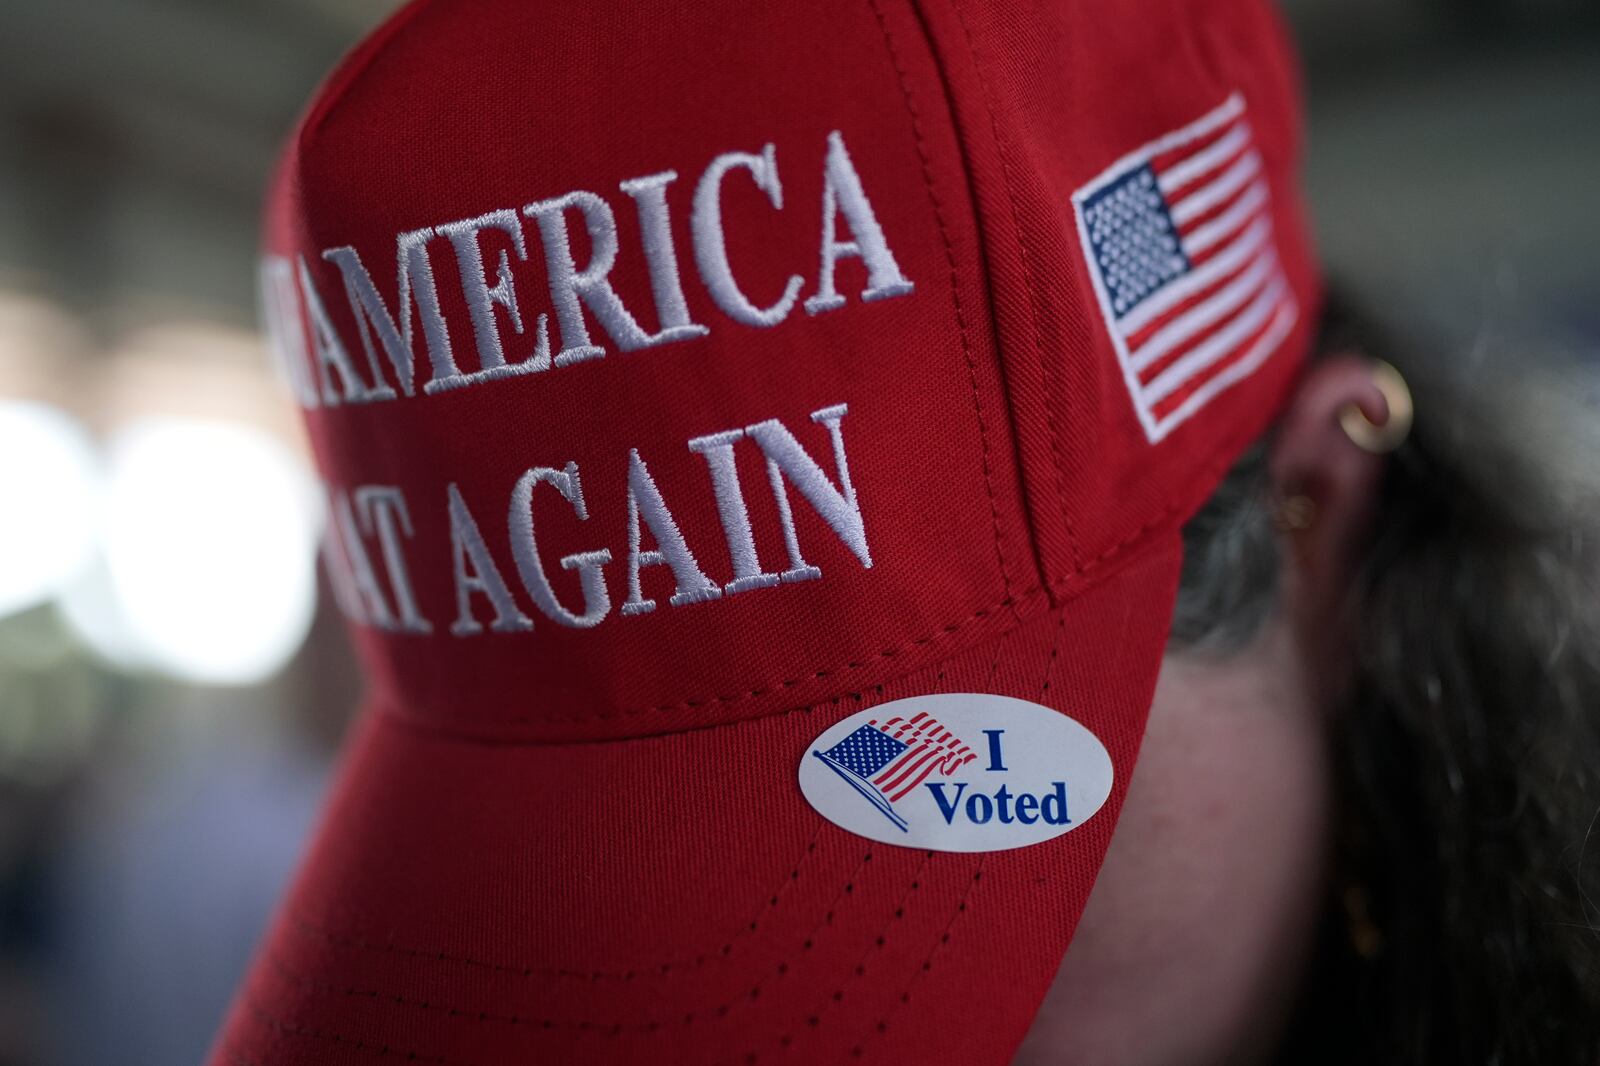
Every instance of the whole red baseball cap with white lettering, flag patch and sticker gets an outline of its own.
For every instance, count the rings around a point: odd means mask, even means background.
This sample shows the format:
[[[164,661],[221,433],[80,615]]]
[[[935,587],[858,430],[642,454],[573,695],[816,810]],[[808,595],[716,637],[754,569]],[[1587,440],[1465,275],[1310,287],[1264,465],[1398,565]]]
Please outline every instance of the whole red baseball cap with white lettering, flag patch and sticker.
[[[1005,1063],[1317,277],[1261,0],[419,0],[270,197],[370,680],[213,1061]]]

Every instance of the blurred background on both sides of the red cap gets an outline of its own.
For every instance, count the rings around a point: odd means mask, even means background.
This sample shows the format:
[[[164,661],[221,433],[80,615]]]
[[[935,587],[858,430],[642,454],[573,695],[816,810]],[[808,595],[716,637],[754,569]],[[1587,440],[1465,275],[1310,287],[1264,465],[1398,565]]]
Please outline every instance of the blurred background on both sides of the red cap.
[[[0,6],[0,1066],[202,1058],[358,695],[256,219],[394,6]],[[1600,351],[1600,5],[1288,10],[1334,274]]]

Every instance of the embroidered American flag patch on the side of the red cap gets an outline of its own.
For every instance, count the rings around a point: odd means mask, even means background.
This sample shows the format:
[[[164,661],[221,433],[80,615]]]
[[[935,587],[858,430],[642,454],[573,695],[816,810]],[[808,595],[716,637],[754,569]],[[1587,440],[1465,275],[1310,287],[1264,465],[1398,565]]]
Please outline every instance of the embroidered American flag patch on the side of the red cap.
[[[1299,307],[1237,93],[1072,197],[1101,314],[1150,442],[1254,373]]]

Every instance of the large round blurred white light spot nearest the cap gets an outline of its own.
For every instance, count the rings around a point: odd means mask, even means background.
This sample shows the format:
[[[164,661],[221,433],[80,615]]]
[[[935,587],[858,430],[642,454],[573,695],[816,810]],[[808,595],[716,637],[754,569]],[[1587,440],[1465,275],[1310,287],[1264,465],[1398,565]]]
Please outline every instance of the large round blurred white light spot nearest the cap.
[[[133,647],[83,635],[114,659],[187,680],[262,680],[310,626],[317,525],[310,479],[275,439],[222,423],[133,423],[110,442],[101,538],[115,603],[99,611],[110,631],[120,616]]]

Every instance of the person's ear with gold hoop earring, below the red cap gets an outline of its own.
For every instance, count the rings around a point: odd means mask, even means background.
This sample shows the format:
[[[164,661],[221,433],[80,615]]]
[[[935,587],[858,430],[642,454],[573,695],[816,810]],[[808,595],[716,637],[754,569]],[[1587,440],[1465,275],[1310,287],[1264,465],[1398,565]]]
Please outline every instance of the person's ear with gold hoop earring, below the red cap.
[[[1355,576],[1371,528],[1384,456],[1358,445],[1341,419],[1355,418],[1347,413],[1354,407],[1368,427],[1381,431],[1402,415],[1390,410],[1376,368],[1358,355],[1317,360],[1294,389],[1272,443],[1286,605],[1302,632],[1334,621],[1330,611]]]

